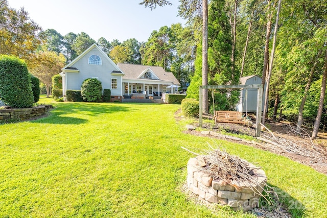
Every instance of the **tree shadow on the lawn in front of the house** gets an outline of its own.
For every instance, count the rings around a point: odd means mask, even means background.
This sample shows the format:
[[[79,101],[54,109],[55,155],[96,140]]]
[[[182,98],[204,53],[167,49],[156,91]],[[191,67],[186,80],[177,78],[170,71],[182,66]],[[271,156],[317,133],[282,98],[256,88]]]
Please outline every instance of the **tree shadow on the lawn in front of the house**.
[[[50,116],[32,121],[33,123],[46,124],[84,124],[88,122],[86,118],[78,118],[71,114],[80,114],[85,116],[99,116],[108,113],[128,112],[135,110],[133,108],[120,105],[105,103],[62,103],[58,104],[50,112]]]

